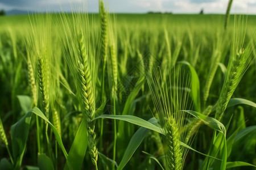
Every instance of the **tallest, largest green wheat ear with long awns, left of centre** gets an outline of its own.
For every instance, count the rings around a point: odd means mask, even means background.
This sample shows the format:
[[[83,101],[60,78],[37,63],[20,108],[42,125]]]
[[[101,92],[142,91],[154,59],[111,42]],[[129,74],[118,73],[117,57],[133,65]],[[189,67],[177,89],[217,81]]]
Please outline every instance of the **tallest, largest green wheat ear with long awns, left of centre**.
[[[84,11],[73,14],[72,18],[72,23],[66,16],[62,18],[63,26],[68,27],[63,29],[65,59],[76,85],[77,97],[85,120],[89,154],[94,167],[98,169],[95,122],[92,121],[95,117],[95,84],[98,69],[94,35],[90,29],[93,23],[89,24],[88,15]]]

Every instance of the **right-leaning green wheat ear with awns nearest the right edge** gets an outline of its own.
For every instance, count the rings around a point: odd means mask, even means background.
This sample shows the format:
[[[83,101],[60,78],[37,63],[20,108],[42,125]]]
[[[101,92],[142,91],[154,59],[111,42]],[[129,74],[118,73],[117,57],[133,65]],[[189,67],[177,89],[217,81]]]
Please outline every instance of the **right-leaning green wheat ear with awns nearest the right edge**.
[[[253,60],[253,48],[255,48],[255,46],[249,43],[246,48],[243,49],[245,39],[243,18],[237,20],[235,18],[234,30],[228,71],[221,89],[220,97],[217,101],[215,117],[218,120],[221,120],[230,98]],[[252,43],[253,41],[250,42]]]

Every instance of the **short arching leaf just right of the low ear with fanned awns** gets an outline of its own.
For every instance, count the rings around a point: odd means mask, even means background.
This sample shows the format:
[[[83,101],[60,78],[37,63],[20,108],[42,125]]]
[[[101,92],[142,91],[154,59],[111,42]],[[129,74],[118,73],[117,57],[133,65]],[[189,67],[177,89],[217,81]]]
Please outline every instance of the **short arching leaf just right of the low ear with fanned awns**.
[[[183,110],[183,111],[191,114],[192,116],[195,116],[196,118],[199,118],[201,121],[204,122],[205,125],[209,126],[214,130],[220,131],[226,136],[225,126],[220,121],[217,121],[215,118],[205,116],[204,114],[201,114],[195,111],[190,111],[190,110]]]

